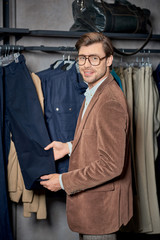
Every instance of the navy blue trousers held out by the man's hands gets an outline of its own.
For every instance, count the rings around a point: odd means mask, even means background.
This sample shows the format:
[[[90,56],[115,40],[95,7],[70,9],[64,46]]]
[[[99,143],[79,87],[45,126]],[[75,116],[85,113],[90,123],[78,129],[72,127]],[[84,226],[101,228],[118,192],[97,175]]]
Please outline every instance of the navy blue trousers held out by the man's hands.
[[[3,67],[6,122],[16,147],[26,189],[40,188],[40,176],[55,172],[53,151],[37,92],[23,55]]]

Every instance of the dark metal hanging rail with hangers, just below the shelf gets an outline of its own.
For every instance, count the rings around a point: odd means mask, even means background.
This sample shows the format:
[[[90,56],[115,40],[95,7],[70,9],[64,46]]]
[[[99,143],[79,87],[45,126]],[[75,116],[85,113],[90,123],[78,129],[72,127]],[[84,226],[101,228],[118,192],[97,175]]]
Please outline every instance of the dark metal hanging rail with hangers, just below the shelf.
[[[136,51],[136,49],[118,49],[121,52],[131,53]],[[0,45],[0,56],[3,54],[10,54],[14,52],[27,52],[27,51],[43,51],[43,52],[76,52],[75,47],[48,47],[48,46],[21,46],[21,45]],[[140,53],[160,53],[160,49],[143,49]]]

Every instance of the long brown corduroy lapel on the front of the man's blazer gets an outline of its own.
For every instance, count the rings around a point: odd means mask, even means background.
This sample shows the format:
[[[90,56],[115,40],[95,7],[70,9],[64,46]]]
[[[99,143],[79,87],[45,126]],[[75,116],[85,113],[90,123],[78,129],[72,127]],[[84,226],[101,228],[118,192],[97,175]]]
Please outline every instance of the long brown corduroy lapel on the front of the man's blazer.
[[[74,137],[74,141],[73,141],[73,146],[72,146],[72,152],[74,151],[75,147],[77,146],[79,139],[81,137],[82,134],[82,130],[84,128],[84,125],[87,121],[88,115],[90,114],[90,112],[92,111],[92,108],[94,107],[95,103],[97,102],[100,94],[102,93],[103,89],[106,87],[107,84],[109,84],[111,81],[113,80],[112,75],[110,74],[108,76],[108,78],[98,87],[97,91],[95,92],[91,102],[89,103],[86,112],[82,118],[82,113],[83,113],[83,109],[84,109],[84,104],[85,104],[85,100],[82,104],[80,113],[79,113],[79,117],[78,117],[78,122],[77,122],[77,127],[76,127],[76,131],[75,131],[75,137]]]

